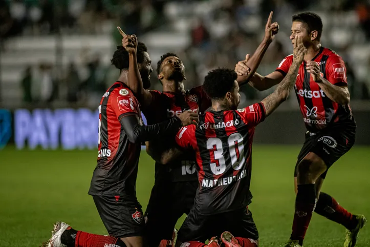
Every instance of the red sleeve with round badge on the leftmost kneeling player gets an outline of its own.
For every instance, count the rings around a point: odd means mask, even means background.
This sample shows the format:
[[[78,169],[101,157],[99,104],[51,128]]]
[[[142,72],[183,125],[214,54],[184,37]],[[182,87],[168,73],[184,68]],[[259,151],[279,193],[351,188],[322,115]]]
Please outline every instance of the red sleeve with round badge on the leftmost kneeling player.
[[[139,116],[139,103],[134,94],[127,89],[115,89],[109,96],[109,100],[117,119],[126,115]]]

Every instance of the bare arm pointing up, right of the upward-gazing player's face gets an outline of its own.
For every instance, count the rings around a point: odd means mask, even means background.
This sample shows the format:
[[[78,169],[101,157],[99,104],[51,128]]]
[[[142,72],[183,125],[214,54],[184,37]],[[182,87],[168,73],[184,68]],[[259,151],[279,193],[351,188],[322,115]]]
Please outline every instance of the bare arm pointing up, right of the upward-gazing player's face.
[[[243,74],[238,73],[238,77],[236,81],[238,82],[239,85],[243,85],[250,81],[254,73],[257,71],[257,68],[262,58],[264,57],[267,51],[267,48],[270,46],[271,42],[274,40],[275,34],[278,32],[279,25],[276,22],[271,24],[272,14],[273,12],[271,11],[270,16],[266,23],[265,37],[262,40],[262,43],[259,44],[253,56],[249,59],[246,59],[246,67],[248,67],[250,71],[248,71],[248,73],[243,73]]]

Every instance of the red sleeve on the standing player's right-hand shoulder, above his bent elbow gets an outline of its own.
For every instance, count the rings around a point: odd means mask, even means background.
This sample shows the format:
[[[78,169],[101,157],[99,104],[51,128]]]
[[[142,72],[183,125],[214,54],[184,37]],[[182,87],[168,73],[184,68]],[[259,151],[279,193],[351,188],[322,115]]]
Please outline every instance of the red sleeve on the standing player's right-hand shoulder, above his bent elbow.
[[[325,73],[327,80],[331,84],[337,86],[347,85],[347,69],[345,68],[343,59],[337,54],[333,54],[329,57],[327,65],[325,66]]]

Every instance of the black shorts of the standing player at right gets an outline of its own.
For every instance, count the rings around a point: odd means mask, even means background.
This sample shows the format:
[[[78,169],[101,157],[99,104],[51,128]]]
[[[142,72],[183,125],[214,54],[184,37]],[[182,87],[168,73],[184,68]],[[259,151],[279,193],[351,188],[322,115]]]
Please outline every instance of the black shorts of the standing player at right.
[[[341,156],[348,152],[355,143],[356,126],[344,126],[325,129],[318,133],[306,132],[306,140],[298,154],[297,163],[294,169],[294,176],[297,176],[299,162],[310,152],[319,156],[327,165],[328,169]],[[325,178],[327,171],[321,174]]]

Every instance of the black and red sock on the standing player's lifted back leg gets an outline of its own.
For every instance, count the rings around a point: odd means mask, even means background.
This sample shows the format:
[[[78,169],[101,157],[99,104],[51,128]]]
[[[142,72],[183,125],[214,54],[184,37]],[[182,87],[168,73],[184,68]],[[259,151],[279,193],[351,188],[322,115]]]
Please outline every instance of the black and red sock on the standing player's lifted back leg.
[[[353,214],[346,211],[333,197],[323,192],[320,192],[315,212],[350,230],[354,229],[358,223]]]

